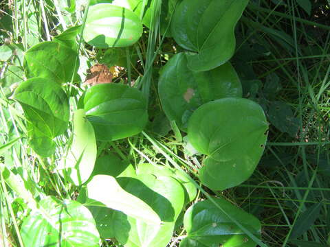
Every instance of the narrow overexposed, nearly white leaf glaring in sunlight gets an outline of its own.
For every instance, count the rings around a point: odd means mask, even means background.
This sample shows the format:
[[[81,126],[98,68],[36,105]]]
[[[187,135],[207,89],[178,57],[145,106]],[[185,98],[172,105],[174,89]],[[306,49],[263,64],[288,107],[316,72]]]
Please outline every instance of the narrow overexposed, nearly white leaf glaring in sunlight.
[[[107,188],[107,191],[104,191],[104,188]],[[122,211],[144,222],[155,225],[160,223],[159,216],[148,204],[124,191],[112,176],[94,176],[87,184],[87,191],[89,198],[101,202],[106,207]]]

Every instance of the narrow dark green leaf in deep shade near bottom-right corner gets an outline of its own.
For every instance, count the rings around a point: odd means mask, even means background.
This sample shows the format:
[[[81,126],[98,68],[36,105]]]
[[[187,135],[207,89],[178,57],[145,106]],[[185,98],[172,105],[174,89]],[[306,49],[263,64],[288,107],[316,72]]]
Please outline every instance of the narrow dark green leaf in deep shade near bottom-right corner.
[[[294,224],[291,232],[290,237],[292,239],[303,235],[303,233],[305,233],[307,230],[309,230],[309,228],[311,228],[311,226],[320,216],[321,207],[322,202],[318,202],[306,209],[304,213],[299,215],[298,219],[296,220],[296,224]]]

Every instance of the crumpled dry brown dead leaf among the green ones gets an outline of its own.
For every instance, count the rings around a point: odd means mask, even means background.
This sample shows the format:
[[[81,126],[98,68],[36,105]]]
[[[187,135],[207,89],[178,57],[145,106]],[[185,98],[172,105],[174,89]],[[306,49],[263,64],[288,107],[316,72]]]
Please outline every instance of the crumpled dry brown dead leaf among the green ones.
[[[95,64],[87,71],[87,78],[84,84],[94,86],[96,84],[111,83],[112,73],[105,64]]]

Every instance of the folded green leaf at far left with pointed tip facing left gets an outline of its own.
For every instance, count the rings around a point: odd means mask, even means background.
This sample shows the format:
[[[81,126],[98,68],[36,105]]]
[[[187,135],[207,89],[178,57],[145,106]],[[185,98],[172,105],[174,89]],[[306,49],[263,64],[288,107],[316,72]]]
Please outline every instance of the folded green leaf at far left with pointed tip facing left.
[[[28,136],[34,151],[41,156],[54,152],[52,139],[62,134],[69,122],[69,99],[56,82],[31,78],[14,93],[28,120]]]

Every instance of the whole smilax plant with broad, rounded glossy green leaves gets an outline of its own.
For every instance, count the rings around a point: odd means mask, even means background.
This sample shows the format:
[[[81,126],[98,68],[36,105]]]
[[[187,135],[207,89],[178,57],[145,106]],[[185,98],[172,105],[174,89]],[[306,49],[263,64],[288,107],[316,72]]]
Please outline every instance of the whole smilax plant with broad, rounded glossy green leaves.
[[[242,98],[229,61],[234,29],[247,5],[248,0],[91,1],[83,25],[25,52],[27,80],[12,97],[23,109],[29,146],[44,165],[55,160],[54,176],[74,191],[67,198],[47,193],[36,198],[15,186],[19,178],[1,167],[8,185],[33,206],[20,226],[25,247],[100,246],[100,239],[166,247],[182,224],[181,247],[265,246],[256,217],[210,196],[170,156],[173,166],[133,166],[125,156],[100,152],[101,146],[146,129],[152,62],[144,64],[145,74],[134,86],[97,84],[85,90],[78,75],[78,34],[87,47],[126,47],[129,53],[143,33],[152,35],[158,27],[159,36],[175,40],[178,52],[159,71],[156,97],[176,132],[186,133],[198,152],[202,166],[194,167],[195,176],[215,194],[239,185],[259,163],[268,128],[261,106]],[[164,154],[166,147],[143,134]],[[56,157],[58,142],[65,139],[65,155]],[[194,202],[199,191],[207,199]]]

